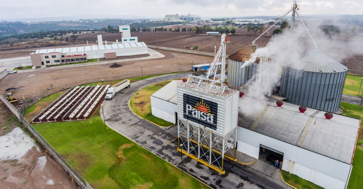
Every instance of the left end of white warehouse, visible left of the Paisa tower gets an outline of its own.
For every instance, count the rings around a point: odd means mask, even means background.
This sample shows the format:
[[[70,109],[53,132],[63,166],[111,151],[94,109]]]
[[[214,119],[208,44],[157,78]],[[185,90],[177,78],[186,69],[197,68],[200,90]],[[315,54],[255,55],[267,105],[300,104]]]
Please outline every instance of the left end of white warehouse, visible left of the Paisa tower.
[[[152,115],[174,124],[178,120],[177,82],[171,81],[150,96]]]

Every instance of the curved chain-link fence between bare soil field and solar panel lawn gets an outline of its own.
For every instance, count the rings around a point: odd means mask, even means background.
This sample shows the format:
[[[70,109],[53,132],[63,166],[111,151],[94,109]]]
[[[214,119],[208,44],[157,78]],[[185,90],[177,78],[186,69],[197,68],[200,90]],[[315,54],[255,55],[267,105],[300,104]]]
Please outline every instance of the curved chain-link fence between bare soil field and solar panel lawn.
[[[90,78],[84,78],[84,79],[78,79],[76,81],[71,81],[68,83],[63,83],[61,85],[57,85],[51,88],[48,88],[32,97],[27,99],[23,105],[19,108],[19,112],[21,115],[24,115],[25,111],[32,106],[34,103],[36,103],[38,100],[53,94],[57,93],[61,90],[69,89],[72,86],[77,85],[84,85],[87,83],[95,83],[95,82],[102,82],[103,81],[112,81],[117,79],[126,79],[126,78],[133,78],[133,77],[142,77],[142,76],[148,76],[148,75],[156,75],[156,74],[166,74],[166,73],[173,73],[173,72],[179,72],[179,71],[188,71],[191,70],[191,66],[181,66],[181,67],[173,67],[173,68],[167,68],[167,69],[158,69],[158,70],[150,70],[150,71],[139,71],[139,72],[133,72],[133,73],[123,73],[123,74],[115,74],[115,75],[103,75],[99,77],[90,77]],[[25,100],[25,99],[24,99]]]

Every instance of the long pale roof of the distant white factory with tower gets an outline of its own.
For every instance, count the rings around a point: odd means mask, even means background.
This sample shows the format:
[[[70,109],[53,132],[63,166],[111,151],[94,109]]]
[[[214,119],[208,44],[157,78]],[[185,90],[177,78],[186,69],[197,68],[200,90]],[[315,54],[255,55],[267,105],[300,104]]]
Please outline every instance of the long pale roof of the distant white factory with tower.
[[[111,45],[92,45],[92,46],[79,46],[79,47],[65,47],[65,48],[56,48],[56,49],[38,49],[36,50],[36,54],[38,53],[75,53],[75,52],[84,52],[90,50],[106,50],[106,49],[119,49],[119,48],[129,48],[129,47],[138,47],[138,46],[146,46],[144,42],[130,43],[130,44],[111,44]]]

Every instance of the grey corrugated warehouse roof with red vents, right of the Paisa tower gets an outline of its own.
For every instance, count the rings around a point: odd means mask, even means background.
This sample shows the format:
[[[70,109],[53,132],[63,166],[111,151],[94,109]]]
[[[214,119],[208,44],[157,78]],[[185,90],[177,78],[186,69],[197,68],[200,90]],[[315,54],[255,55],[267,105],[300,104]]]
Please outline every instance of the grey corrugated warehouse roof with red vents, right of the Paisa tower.
[[[248,99],[243,100],[245,102],[242,104],[255,103]],[[267,109],[253,131],[297,145],[309,117],[313,116],[311,124],[306,127],[306,136],[302,136],[303,142],[300,147],[344,163],[351,163],[359,119],[333,114],[331,121],[327,121],[324,116],[325,111],[307,108],[305,114],[300,114],[299,105],[284,102],[281,108],[276,108],[276,100],[272,99],[264,104],[271,107]],[[242,105],[240,108],[245,107]],[[260,108],[246,114],[240,112],[238,126],[250,129],[263,110],[264,108]]]

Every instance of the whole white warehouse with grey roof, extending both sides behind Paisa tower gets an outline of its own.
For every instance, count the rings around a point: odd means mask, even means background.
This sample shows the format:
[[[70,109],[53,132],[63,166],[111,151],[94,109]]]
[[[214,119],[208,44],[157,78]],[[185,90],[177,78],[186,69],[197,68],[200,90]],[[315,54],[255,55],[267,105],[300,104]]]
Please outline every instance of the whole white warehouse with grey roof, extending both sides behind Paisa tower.
[[[329,189],[344,189],[352,170],[352,160],[360,120],[308,108],[302,114],[299,105],[284,102],[277,108],[276,100],[253,102],[242,98],[238,108],[237,151],[255,159],[270,152],[282,160],[282,169],[314,184]],[[250,101],[250,102],[249,102]],[[152,115],[175,123],[177,81],[172,81],[151,95]],[[254,104],[242,111],[243,104]],[[242,161],[243,160],[238,160]]]

